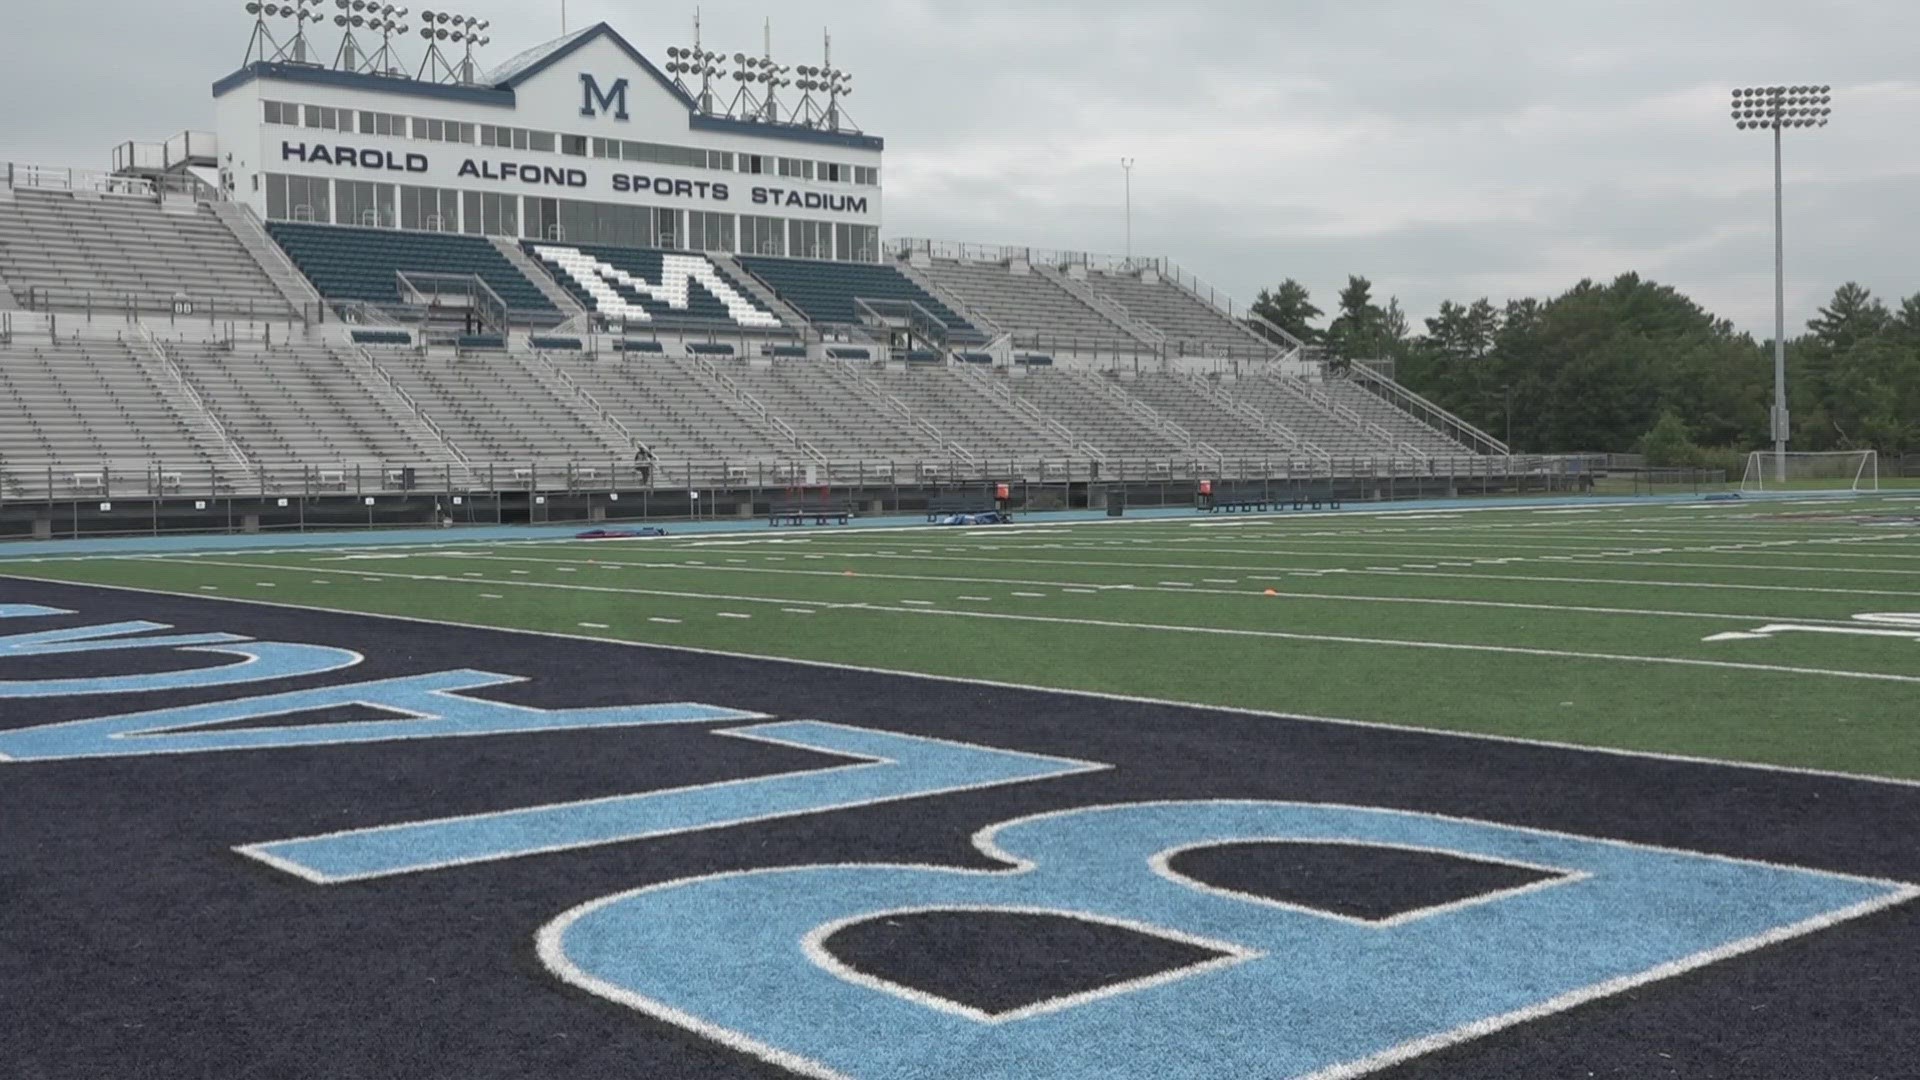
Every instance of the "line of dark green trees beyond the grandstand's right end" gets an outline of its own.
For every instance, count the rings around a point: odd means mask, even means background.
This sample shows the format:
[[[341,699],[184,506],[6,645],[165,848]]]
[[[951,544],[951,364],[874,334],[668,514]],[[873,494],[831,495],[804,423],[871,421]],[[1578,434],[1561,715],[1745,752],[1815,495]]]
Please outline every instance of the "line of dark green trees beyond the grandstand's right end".
[[[1331,319],[1292,279],[1252,309],[1336,367],[1394,361],[1409,390],[1519,454],[1640,450],[1692,465],[1772,442],[1772,342],[1640,275],[1551,300],[1446,302],[1421,332],[1365,277],[1348,279]],[[1920,450],[1920,292],[1889,307],[1839,286],[1788,340],[1788,394],[1795,450]]]

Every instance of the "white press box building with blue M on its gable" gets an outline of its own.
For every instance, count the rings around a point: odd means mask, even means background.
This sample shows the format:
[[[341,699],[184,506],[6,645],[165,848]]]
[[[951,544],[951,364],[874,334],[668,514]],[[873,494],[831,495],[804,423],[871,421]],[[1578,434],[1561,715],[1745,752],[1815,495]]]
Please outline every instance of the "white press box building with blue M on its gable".
[[[885,142],[837,96],[716,110],[703,58],[599,23],[449,81],[250,61],[213,85],[219,184],[267,221],[877,261]]]

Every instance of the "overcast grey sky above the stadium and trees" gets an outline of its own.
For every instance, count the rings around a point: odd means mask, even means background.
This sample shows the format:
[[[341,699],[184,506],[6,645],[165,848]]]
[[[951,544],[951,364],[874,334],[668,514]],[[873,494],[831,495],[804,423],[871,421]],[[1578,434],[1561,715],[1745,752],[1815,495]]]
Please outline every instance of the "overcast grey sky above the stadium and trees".
[[[430,4],[430,0],[428,0]],[[499,61],[559,0],[465,0]],[[23,8],[23,10],[21,10]],[[192,8],[182,12],[182,8]],[[240,0],[15,6],[0,156],[98,165],[207,127]],[[643,52],[691,4],[568,0]],[[849,111],[887,136],[887,234],[1135,250],[1242,300],[1284,277],[1323,307],[1369,275],[1423,317],[1640,271],[1743,329],[1772,325],[1772,156],[1728,90],[1832,83],[1788,138],[1788,306],[1841,281],[1920,292],[1920,4],[1912,0],[707,0],[707,44],[785,63],[822,29]],[[417,50],[409,50],[417,52]],[[21,106],[29,102],[31,108]]]

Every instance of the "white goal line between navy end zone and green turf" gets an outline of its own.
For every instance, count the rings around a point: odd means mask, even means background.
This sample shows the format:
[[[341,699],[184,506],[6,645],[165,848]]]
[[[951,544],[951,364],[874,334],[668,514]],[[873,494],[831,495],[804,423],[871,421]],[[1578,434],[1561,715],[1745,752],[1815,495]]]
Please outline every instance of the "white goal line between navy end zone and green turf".
[[[125,555],[121,555],[121,557],[125,557]],[[1091,700],[1098,700],[1098,701],[1125,701],[1125,703],[1135,703],[1135,705],[1165,705],[1165,707],[1175,707],[1175,709],[1200,709],[1200,711],[1213,711],[1213,713],[1233,713],[1233,715],[1240,715],[1240,717],[1258,717],[1258,719],[1267,719],[1267,721],[1331,724],[1331,726],[1359,728],[1359,730],[1379,730],[1379,732],[1398,732],[1398,734],[1409,734],[1411,732],[1411,734],[1434,736],[1434,738],[1461,738],[1461,740],[1476,740],[1476,742],[1498,742],[1498,744],[1505,744],[1505,746],[1534,746],[1534,748],[1563,749],[1563,751],[1572,751],[1572,753],[1599,753],[1599,755],[1605,755],[1605,757],[1630,757],[1630,759],[1644,759],[1644,761],[1668,761],[1668,763],[1676,763],[1676,765],[1701,765],[1701,767],[1709,767],[1709,769],[1740,769],[1740,771],[1749,771],[1749,773],[1776,773],[1776,774],[1782,774],[1782,776],[1811,776],[1811,778],[1818,778],[1818,780],[1837,780],[1837,782],[1847,782],[1847,784],[1884,784],[1884,786],[1891,786],[1891,788],[1914,788],[1914,790],[1920,790],[1920,778],[1882,776],[1882,774],[1874,774],[1874,773],[1843,773],[1839,769],[1814,769],[1814,767],[1807,767],[1807,765],[1772,765],[1772,763],[1766,763],[1766,761],[1734,761],[1734,759],[1724,759],[1724,757],[1701,757],[1697,753],[1668,753],[1668,751],[1659,751],[1659,749],[1628,749],[1628,748],[1620,748],[1620,746],[1588,746],[1588,744],[1578,744],[1578,742],[1561,742],[1561,740],[1548,740],[1548,738],[1528,738],[1528,736],[1515,736],[1515,734],[1490,734],[1490,732],[1469,732],[1469,730],[1459,730],[1459,728],[1436,728],[1436,726],[1415,724],[1415,723],[1354,721],[1354,719],[1346,719],[1346,717],[1317,717],[1317,715],[1311,715],[1311,713],[1281,713],[1281,711],[1273,711],[1273,709],[1248,709],[1244,705],[1208,705],[1208,703],[1202,703],[1202,701],[1177,701],[1173,698],[1148,698],[1144,694],[1112,694],[1112,692],[1106,692],[1106,690],[1069,690],[1069,688],[1064,688],[1064,686],[1037,686],[1037,684],[1031,684],[1031,682],[1008,682],[1008,680],[1000,680],[1000,678],[970,678],[970,676],[964,676],[964,675],[937,675],[937,673],[927,673],[927,671],[906,671],[906,669],[899,669],[899,667],[872,667],[872,665],[839,663],[839,661],[826,661],[826,659],[778,657],[778,655],[766,655],[766,653],[747,653],[747,651],[737,651],[737,650],[712,650],[712,648],[699,648],[699,646],[674,646],[674,644],[666,644],[666,642],[636,642],[636,640],[628,640],[628,638],[599,638],[599,636],[593,636],[593,634],[563,634],[563,632],[555,632],[555,630],[528,630],[528,628],[513,628],[513,626],[495,626],[492,623],[465,623],[465,621],[459,621],[459,619],[426,619],[422,615],[376,615],[376,613],[367,613],[367,611],[351,611],[351,609],[338,609],[338,607],[315,607],[311,603],[286,603],[286,601],[278,601],[278,600],[257,600],[257,598],[246,598],[246,596],[196,596],[192,592],[163,590],[163,588],[140,588],[140,586],[132,586],[132,584],[67,582],[67,580],[58,580],[58,578],[33,578],[33,577],[8,575],[8,573],[0,573],[0,580],[21,580],[21,582],[27,582],[27,584],[42,584],[42,586],[50,584],[50,586],[56,586],[56,588],[58,586],[69,586],[69,588],[98,588],[98,590],[108,590],[108,592],[132,592],[132,594],[140,594],[140,596],[165,596],[169,600],[192,598],[192,600],[209,600],[209,601],[215,601],[215,603],[236,603],[236,605],[252,605],[252,607],[276,607],[276,609],[284,609],[284,611],[324,611],[328,615],[346,615],[346,617],[357,617],[357,619],[386,619],[386,621],[392,621],[392,623],[415,623],[415,625],[420,625],[420,626],[459,626],[459,628],[467,628],[467,630],[490,630],[490,632],[495,632],[495,634],[522,634],[522,636],[530,636],[530,638],[549,638],[549,640],[559,640],[559,642],[599,642],[599,644],[607,644],[607,646],[626,646],[626,648],[634,648],[634,650],[655,650],[655,651],[687,653],[687,655],[714,655],[714,657],[728,657],[728,659],[751,659],[751,661],[762,661],[762,663],[785,663],[785,665],[795,665],[795,667],[818,667],[818,669],[824,669],[824,671],[852,671],[852,673],[860,673],[860,675],[887,675],[887,676],[895,676],[895,678],[920,678],[920,680],[925,680],[925,682],[945,682],[945,684],[954,684],[954,686],[991,686],[991,688],[996,688],[996,690],[1021,690],[1021,692],[1031,692],[1031,694],[1050,694],[1050,696],[1058,696],[1058,698],[1091,698]],[[653,619],[649,619],[649,621],[653,621]]]

